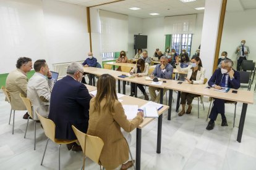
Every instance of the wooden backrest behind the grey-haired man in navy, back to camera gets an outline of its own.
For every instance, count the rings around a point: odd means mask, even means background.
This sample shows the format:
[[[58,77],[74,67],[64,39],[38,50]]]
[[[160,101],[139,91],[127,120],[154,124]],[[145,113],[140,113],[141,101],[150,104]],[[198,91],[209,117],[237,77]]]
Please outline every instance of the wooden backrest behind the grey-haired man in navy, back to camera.
[[[45,135],[51,139],[53,142],[55,141],[55,123],[51,119],[44,118],[36,112],[36,115],[40,119],[40,122],[43,126],[43,131],[45,131]]]

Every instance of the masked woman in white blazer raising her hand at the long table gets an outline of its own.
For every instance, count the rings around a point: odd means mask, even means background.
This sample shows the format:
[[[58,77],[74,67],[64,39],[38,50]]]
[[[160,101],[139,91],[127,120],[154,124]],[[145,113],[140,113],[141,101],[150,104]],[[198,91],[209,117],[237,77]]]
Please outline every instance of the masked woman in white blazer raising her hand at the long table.
[[[189,65],[186,68],[181,68],[181,63],[179,63],[179,58],[176,57],[176,68],[178,71],[187,72],[187,77],[185,78],[187,80],[187,83],[203,84],[203,81],[205,80],[205,68],[202,67],[202,62],[199,57],[194,57],[194,59],[191,60],[191,65]],[[185,113],[186,100],[187,100],[187,105],[189,105],[186,113],[187,114],[191,113],[191,109],[192,109],[191,103],[194,97],[196,96],[197,94],[181,92],[182,110],[181,112],[179,112],[179,116],[182,116]]]

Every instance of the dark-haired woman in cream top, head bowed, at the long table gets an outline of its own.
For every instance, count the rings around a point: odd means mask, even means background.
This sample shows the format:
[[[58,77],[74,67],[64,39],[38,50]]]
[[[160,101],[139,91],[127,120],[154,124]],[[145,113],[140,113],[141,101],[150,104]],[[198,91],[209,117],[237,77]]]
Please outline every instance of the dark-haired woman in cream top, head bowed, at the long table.
[[[147,76],[148,68],[149,68],[148,63],[145,63],[143,59],[139,59],[139,60],[137,60],[135,67],[132,68],[132,70],[130,70],[130,75],[134,74],[134,76]],[[137,84],[137,86],[139,87],[140,91],[142,91],[142,93],[144,95],[144,99],[148,100],[148,95],[147,95],[143,85]],[[132,95],[130,95],[130,96],[134,96],[135,83],[132,83],[132,89],[130,89],[130,90],[132,91]]]

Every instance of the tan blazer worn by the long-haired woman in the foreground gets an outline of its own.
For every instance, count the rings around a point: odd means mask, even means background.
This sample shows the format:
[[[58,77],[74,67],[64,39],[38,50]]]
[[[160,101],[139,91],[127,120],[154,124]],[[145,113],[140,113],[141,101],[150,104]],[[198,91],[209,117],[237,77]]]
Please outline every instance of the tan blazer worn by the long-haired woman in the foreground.
[[[115,169],[129,159],[129,148],[126,139],[122,135],[121,127],[126,132],[131,132],[143,121],[141,116],[136,116],[132,121],[127,120],[122,104],[116,100],[114,112],[111,113],[103,106],[106,103],[103,99],[100,103],[100,112],[93,111],[95,97],[90,102],[90,119],[87,134],[100,137],[103,142],[103,150],[100,155],[100,162],[106,169]]]

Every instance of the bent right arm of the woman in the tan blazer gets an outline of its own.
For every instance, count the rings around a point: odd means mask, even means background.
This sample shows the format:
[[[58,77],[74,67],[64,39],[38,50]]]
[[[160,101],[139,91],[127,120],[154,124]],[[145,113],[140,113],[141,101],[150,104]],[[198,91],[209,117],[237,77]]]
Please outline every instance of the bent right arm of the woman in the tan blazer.
[[[132,121],[129,121],[120,102],[116,103],[114,106],[113,118],[126,132],[131,132],[143,121],[142,116],[136,116]]]

